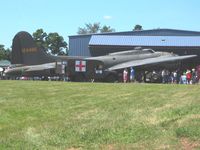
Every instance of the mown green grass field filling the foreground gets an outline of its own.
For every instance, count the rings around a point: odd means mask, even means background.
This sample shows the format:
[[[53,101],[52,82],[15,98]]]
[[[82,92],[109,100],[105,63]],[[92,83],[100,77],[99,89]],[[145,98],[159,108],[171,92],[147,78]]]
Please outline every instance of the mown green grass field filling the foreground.
[[[200,85],[0,81],[0,149],[200,149]]]

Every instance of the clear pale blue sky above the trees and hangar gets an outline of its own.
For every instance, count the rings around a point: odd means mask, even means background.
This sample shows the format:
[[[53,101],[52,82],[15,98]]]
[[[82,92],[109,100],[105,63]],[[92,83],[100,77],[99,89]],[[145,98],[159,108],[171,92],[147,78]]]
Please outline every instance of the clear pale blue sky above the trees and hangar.
[[[85,23],[117,32],[143,29],[200,31],[200,0],[0,0],[0,44],[10,48],[16,33],[57,32],[68,43]]]

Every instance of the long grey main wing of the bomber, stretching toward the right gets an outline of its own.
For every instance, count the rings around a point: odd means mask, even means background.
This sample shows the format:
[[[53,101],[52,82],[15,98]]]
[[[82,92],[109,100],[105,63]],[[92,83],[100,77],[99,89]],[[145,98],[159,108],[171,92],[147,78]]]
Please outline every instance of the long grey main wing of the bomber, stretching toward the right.
[[[165,62],[173,62],[173,61],[180,61],[184,59],[189,59],[196,57],[197,55],[186,55],[186,56],[161,56],[156,58],[147,58],[143,60],[133,60],[124,63],[120,63],[108,68],[109,71],[118,70],[128,67],[137,67],[137,66],[144,66],[144,65],[153,65],[158,63],[165,63]]]

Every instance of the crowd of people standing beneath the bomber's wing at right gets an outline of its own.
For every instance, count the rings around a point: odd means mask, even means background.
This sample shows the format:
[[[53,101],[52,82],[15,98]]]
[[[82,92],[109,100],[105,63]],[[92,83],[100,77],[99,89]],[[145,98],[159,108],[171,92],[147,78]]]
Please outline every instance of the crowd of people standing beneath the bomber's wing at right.
[[[161,71],[152,71],[151,75],[160,76],[160,82],[164,84],[168,83],[176,83],[176,84],[197,84],[200,82],[200,65],[193,69],[187,70],[175,70],[169,71],[167,69],[163,69]],[[146,76],[146,75],[145,75]],[[146,80],[146,77],[145,79]],[[123,71],[123,82],[135,82],[136,79],[136,71],[133,67],[130,69],[124,69]],[[145,82],[145,81],[144,81]]]

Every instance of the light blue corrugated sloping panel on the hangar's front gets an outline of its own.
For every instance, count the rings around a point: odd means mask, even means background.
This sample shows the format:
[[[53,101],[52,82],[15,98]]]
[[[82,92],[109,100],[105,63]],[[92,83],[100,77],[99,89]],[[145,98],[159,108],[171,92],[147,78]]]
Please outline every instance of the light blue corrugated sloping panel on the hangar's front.
[[[93,35],[89,45],[200,47],[200,36]]]

